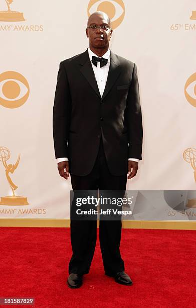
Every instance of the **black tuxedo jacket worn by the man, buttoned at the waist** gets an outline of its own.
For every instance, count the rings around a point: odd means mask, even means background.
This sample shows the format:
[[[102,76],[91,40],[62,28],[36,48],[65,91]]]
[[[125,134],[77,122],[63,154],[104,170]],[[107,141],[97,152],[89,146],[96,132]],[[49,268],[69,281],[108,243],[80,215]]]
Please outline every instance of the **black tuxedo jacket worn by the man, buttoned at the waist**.
[[[137,68],[111,51],[101,97],[87,49],[60,63],[53,107],[55,157],[68,157],[71,174],[88,175],[101,134],[111,174],[127,174],[128,158],[141,160],[142,152]]]

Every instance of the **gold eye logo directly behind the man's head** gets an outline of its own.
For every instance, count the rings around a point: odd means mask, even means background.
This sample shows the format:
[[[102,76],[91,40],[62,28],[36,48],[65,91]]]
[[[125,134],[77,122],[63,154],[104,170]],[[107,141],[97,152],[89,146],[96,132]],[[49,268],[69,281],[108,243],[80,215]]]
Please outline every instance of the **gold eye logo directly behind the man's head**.
[[[112,29],[117,28],[121,24],[125,15],[125,7],[122,0],[90,0],[87,11],[88,17],[96,11],[106,13],[111,19]]]

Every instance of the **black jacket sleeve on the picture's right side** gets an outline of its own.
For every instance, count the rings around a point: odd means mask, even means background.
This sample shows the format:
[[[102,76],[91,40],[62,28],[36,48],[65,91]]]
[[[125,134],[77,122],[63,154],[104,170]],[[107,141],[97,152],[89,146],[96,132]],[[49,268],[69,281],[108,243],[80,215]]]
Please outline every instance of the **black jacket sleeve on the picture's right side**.
[[[136,64],[133,67],[131,85],[127,96],[126,119],[129,138],[128,157],[141,160],[143,128]]]

